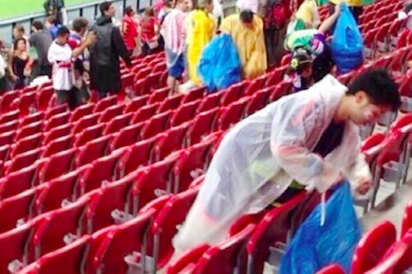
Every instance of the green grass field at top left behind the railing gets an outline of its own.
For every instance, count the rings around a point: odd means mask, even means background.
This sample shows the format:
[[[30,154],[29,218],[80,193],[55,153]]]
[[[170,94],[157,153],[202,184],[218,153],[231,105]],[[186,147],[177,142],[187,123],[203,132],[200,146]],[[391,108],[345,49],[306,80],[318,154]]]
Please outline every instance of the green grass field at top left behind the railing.
[[[0,20],[42,12],[45,0],[0,0]],[[91,0],[65,0],[66,7]]]

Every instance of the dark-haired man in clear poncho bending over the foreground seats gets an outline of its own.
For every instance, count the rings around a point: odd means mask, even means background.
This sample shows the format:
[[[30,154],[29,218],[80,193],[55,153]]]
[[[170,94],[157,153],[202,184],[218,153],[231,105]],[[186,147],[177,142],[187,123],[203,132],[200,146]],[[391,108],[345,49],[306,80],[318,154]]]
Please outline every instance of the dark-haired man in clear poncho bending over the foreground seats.
[[[224,240],[243,214],[284,203],[305,188],[325,193],[347,178],[365,195],[372,184],[358,125],[399,105],[397,84],[387,72],[371,70],[349,88],[328,75],[240,121],[211,160],[174,238],[174,256]]]

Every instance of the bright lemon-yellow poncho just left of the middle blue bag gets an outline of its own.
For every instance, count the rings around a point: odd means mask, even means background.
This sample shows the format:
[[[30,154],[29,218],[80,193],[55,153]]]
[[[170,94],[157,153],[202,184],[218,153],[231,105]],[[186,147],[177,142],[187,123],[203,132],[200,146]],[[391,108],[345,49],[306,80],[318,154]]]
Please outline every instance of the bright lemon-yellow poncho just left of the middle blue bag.
[[[189,78],[194,84],[202,84],[198,75],[198,66],[201,62],[203,49],[209,44],[215,31],[215,21],[203,10],[195,10],[191,14],[192,28],[190,29],[187,45],[187,56],[189,64]]]

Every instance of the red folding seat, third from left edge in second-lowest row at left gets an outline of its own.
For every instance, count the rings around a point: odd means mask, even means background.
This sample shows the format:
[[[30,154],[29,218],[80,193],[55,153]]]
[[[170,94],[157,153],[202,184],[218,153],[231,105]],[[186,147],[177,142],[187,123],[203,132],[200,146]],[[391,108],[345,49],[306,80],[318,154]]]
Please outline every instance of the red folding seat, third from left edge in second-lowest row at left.
[[[109,225],[127,221],[127,216],[132,216],[128,215],[127,202],[134,177],[125,178],[102,186],[93,196],[86,212],[87,232],[89,234]]]

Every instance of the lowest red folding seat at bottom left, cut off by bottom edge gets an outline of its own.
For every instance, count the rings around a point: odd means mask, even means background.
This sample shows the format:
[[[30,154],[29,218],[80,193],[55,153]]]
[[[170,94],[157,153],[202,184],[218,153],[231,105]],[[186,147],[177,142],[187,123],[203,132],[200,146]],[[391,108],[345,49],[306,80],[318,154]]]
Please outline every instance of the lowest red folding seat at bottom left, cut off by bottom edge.
[[[87,251],[91,236],[82,236],[71,244],[47,253],[38,262],[30,264],[34,272],[25,274],[78,274],[82,273],[83,254]],[[28,269],[27,271],[31,271]]]

